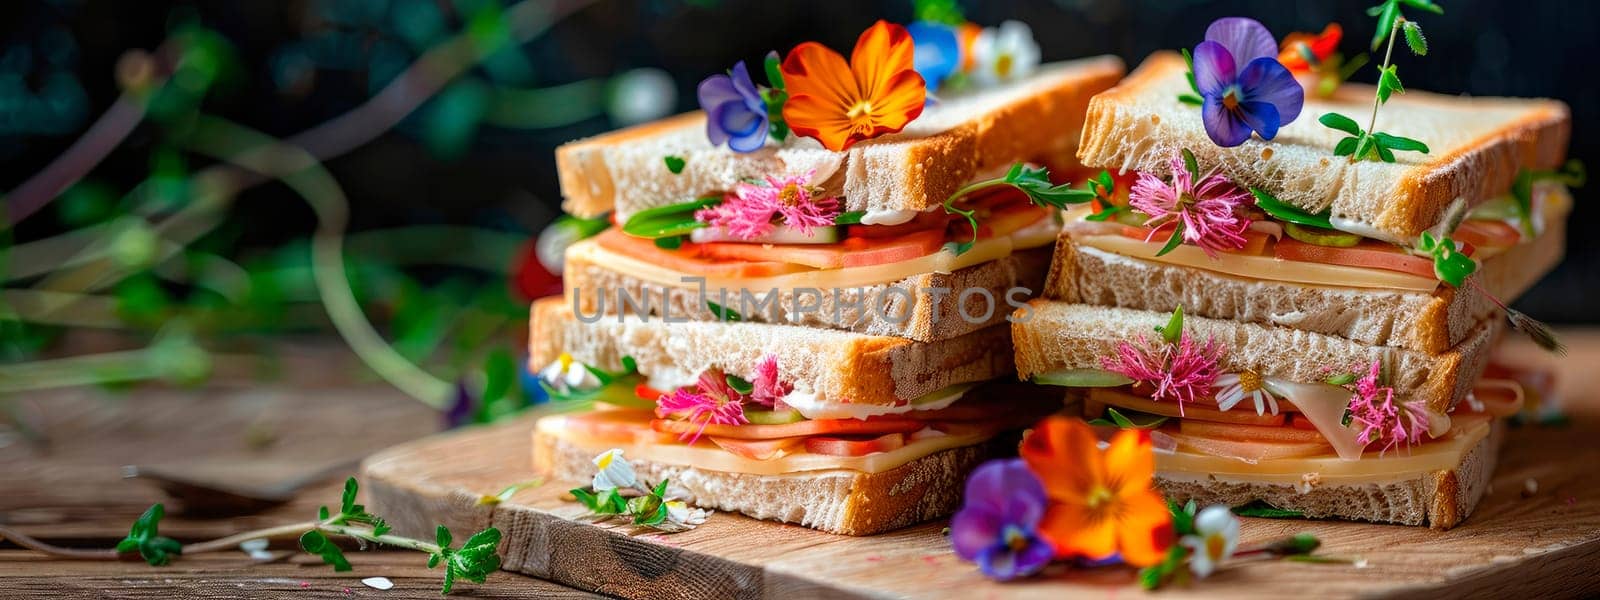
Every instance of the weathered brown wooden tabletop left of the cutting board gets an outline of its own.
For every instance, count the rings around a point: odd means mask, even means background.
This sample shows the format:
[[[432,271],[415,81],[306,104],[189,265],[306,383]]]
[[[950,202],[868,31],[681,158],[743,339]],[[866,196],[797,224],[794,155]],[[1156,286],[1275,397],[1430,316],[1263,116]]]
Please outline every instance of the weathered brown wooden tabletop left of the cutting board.
[[[325,344],[286,349],[280,382],[224,381],[205,389],[165,387],[112,394],[96,389],[37,394],[18,411],[40,437],[0,440],[0,523],[69,547],[112,547],[154,502],[170,502],[147,482],[125,480],[122,466],[158,466],[229,482],[274,482],[358,459],[438,430],[438,416],[370,379],[355,362]],[[355,381],[355,382],[352,382]],[[350,475],[355,467],[350,466]],[[162,534],[194,542],[315,518],[338,504],[344,475],[314,485],[285,506],[230,518],[170,514]],[[466,533],[458,533],[458,541]],[[290,554],[254,563],[242,552],[182,557],[168,566],[142,562],[58,560],[0,542],[0,597],[296,597],[438,598],[440,571],[426,555],[347,549],[354,571],[336,573],[274,541]],[[360,582],[384,576],[390,590]],[[458,584],[480,598],[595,598],[552,582],[496,573],[483,586]]]

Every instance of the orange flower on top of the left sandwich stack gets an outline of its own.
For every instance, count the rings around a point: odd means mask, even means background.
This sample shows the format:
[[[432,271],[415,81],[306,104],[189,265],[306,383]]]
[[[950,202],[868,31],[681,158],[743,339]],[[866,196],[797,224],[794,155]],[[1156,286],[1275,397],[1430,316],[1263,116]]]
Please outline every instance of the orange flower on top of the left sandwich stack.
[[[784,58],[784,122],[829,150],[906,128],[922,115],[926,85],[912,69],[915,45],[906,27],[875,22],[845,58],[806,42]]]

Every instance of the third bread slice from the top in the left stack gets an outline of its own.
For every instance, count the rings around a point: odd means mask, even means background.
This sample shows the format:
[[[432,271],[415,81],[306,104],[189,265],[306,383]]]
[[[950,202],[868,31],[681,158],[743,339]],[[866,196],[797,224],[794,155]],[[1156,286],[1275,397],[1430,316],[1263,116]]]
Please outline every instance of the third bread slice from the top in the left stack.
[[[691,381],[707,368],[754,378],[766,355],[781,378],[821,400],[896,405],[949,386],[1011,374],[1011,328],[995,325],[938,342],[768,323],[643,320],[595,315],[584,323],[562,298],[533,302],[530,366],[568,352],[619,370],[634,357],[646,378]]]

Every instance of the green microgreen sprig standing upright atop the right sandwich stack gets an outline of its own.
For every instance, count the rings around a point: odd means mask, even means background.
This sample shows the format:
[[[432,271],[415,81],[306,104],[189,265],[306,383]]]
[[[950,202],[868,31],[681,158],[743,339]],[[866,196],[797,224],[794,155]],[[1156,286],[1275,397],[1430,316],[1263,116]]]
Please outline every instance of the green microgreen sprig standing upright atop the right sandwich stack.
[[[1389,37],[1389,46],[1384,50],[1384,62],[1378,67],[1378,93],[1373,98],[1373,115],[1366,122],[1366,130],[1362,130],[1354,118],[1338,112],[1330,112],[1317,118],[1323,126],[1350,134],[1341,139],[1333,149],[1334,155],[1350,157],[1350,162],[1382,160],[1392,163],[1395,162],[1395,152],[1429,152],[1427,144],[1421,141],[1376,131],[1378,109],[1387,104],[1389,98],[1395,93],[1405,93],[1405,86],[1400,83],[1398,66],[1394,64],[1395,38],[1403,34],[1406,46],[1411,48],[1413,54],[1427,54],[1427,37],[1422,35],[1422,26],[1400,14],[1400,5],[1422,8],[1435,14],[1445,11],[1432,0],[1386,0],[1382,5],[1366,11],[1366,14],[1378,18],[1373,50],[1376,51],[1384,37]]]

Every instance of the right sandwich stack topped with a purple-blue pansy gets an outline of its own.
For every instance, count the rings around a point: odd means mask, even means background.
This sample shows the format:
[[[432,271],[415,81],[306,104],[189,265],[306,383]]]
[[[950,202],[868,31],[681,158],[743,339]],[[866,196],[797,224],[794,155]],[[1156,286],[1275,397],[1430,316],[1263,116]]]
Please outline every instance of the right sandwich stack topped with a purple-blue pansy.
[[[1538,330],[1504,304],[1563,253],[1568,109],[1408,90],[1368,146],[1330,115],[1373,88],[1267,90],[1245,26],[1091,101],[1078,158],[1117,202],[1067,214],[1018,371],[1149,429],[1171,499],[1453,526],[1520,402],[1480,379],[1496,338]]]

